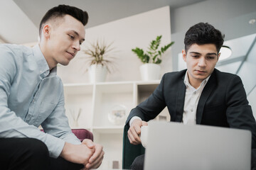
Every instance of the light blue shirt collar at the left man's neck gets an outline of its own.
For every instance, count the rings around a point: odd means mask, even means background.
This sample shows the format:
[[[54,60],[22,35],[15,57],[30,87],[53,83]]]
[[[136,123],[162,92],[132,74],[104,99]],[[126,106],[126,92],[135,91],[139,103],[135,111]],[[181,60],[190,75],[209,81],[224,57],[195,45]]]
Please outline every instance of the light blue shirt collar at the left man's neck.
[[[50,69],[48,63],[46,62],[46,58],[43,56],[43,53],[39,47],[39,45],[35,45],[33,47],[33,55],[36,59],[36,64],[38,65],[39,73],[42,78],[47,77],[50,73]]]

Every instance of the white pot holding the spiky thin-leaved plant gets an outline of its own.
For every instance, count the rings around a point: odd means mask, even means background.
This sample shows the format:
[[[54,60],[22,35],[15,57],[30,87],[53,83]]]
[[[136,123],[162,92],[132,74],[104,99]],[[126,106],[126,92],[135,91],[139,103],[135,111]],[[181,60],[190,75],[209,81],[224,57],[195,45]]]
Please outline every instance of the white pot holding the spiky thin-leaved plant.
[[[101,64],[92,64],[89,69],[90,83],[104,82],[107,77],[107,67]]]

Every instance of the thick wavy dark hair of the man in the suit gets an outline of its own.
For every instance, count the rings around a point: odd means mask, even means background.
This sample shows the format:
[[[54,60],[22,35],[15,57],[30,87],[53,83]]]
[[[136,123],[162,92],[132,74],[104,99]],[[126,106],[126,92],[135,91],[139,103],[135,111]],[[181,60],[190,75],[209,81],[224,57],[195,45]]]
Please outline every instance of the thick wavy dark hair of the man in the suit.
[[[185,35],[184,44],[185,50],[193,45],[214,44],[217,52],[220,52],[220,47],[223,45],[225,35],[222,35],[220,30],[215,29],[208,23],[197,23],[191,26]]]

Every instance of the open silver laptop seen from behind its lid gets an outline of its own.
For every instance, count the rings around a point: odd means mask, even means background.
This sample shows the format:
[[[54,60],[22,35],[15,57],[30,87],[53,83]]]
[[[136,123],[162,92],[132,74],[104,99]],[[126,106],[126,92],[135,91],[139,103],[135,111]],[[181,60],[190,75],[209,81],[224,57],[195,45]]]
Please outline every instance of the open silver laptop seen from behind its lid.
[[[250,170],[249,130],[149,122],[145,170]]]

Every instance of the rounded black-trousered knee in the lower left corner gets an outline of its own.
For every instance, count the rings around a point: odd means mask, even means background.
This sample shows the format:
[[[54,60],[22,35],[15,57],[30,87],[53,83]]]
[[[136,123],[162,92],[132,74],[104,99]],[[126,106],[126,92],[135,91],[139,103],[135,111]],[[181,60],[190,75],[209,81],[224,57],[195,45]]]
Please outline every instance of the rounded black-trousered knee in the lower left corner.
[[[1,150],[5,153],[5,163],[2,163],[7,169],[48,169],[49,152],[41,140],[6,138],[2,139],[1,144]]]

